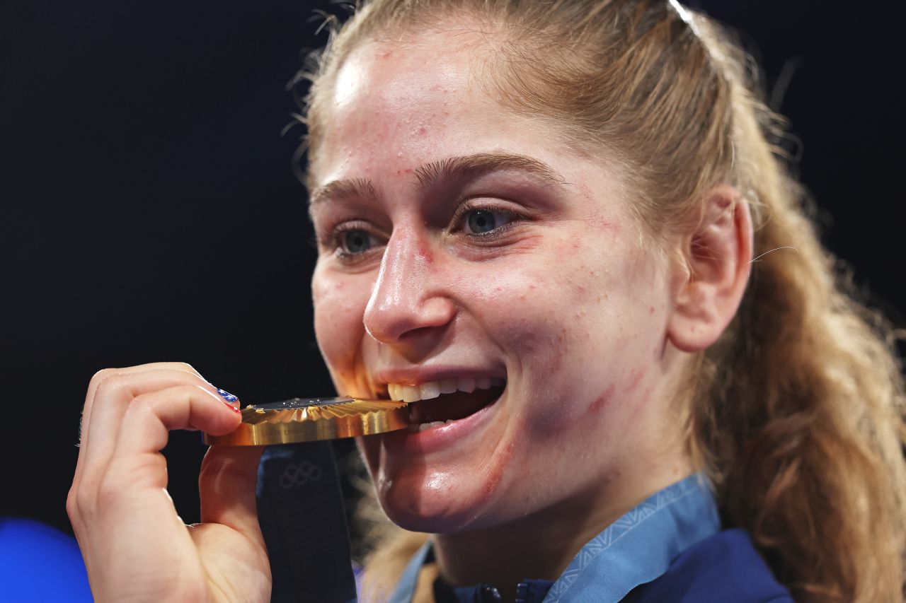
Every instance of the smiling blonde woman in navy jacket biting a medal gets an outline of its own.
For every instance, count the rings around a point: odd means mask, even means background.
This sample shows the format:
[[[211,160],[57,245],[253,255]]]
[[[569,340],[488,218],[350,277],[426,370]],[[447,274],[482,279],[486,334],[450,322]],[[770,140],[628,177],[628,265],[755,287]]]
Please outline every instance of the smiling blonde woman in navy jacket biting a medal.
[[[375,598],[901,600],[901,377],[746,66],[664,1],[376,0],[333,37],[316,332],[339,392],[415,402],[359,445],[433,534],[378,551]],[[220,402],[188,365],[92,379],[68,510],[99,598],[268,597],[260,451],[209,452],[189,531],[163,487]]]

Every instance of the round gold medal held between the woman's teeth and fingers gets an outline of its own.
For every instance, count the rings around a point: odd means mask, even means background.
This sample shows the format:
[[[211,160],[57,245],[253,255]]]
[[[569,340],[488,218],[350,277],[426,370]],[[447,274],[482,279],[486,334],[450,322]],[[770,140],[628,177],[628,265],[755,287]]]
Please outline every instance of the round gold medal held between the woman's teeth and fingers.
[[[352,397],[299,398],[242,409],[242,423],[226,436],[205,434],[205,444],[258,446],[370,436],[409,426],[409,405]]]

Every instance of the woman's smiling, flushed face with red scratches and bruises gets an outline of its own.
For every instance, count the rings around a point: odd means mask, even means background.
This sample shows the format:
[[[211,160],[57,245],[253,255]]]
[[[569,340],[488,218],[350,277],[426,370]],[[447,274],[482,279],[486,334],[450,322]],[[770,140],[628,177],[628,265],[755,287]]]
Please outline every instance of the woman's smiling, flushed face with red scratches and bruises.
[[[461,30],[360,45],[313,152],[315,328],[338,392],[476,387],[361,438],[386,512],[417,531],[594,496],[663,433],[668,279],[621,172],[489,97],[481,48]]]

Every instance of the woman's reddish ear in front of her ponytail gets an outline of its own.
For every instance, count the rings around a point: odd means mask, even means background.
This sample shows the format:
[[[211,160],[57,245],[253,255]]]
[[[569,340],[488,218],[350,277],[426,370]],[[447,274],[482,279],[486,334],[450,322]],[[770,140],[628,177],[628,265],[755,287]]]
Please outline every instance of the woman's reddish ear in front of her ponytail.
[[[667,338],[699,351],[720,337],[746,291],[752,262],[752,216],[736,188],[711,189],[702,220],[683,238],[687,265],[675,266]]]

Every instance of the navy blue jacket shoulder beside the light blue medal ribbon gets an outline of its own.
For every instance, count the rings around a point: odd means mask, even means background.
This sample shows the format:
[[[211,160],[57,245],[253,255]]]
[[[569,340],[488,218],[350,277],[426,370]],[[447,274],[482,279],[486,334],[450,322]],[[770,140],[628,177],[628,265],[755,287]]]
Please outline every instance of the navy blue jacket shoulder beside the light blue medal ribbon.
[[[746,531],[719,531],[683,551],[660,578],[633,589],[627,603],[792,603]]]

